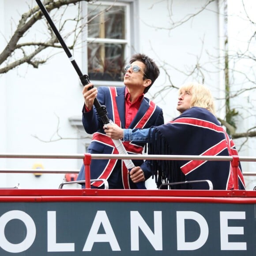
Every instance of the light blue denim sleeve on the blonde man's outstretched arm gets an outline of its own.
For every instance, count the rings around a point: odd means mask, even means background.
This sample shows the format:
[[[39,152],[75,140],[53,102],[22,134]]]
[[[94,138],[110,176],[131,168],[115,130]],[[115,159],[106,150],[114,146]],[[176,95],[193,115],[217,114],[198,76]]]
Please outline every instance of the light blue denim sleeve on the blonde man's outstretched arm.
[[[146,129],[124,129],[123,141],[140,141],[148,143],[152,138],[150,130],[154,128]]]

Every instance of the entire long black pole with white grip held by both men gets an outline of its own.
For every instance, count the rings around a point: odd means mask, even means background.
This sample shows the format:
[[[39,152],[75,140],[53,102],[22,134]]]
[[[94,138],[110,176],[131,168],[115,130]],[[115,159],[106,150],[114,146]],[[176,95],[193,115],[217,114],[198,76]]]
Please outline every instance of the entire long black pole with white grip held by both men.
[[[79,75],[79,79],[80,79],[81,83],[83,84],[83,86],[87,85],[88,83],[90,83],[88,75],[83,75],[83,73],[81,72],[80,68],[76,64],[75,59],[72,56],[72,53],[68,49],[68,46],[65,44],[63,38],[61,37],[61,35],[60,35],[59,31],[57,30],[55,24],[53,23],[53,20],[51,19],[48,11],[46,10],[46,8],[44,6],[44,4],[41,2],[41,0],[36,0],[36,2],[38,4],[39,8],[41,9],[42,13],[45,15],[45,18],[47,19],[49,25],[51,26],[54,34],[58,38],[62,48],[65,51],[65,53],[68,55],[68,58],[71,61],[73,67],[75,68],[75,71]],[[106,107],[104,105],[101,105],[97,98],[94,99],[94,106],[97,109],[98,115],[102,119],[103,124],[104,125],[108,125],[108,124],[112,125],[113,122],[111,120],[109,120],[109,118],[107,116],[108,113],[106,111]],[[115,144],[115,147],[117,148],[117,151],[119,152],[119,154],[128,154],[127,151],[125,150],[124,145],[123,145],[123,143],[121,142],[120,139],[113,139],[113,143]],[[125,166],[127,167],[127,169],[129,171],[133,167],[135,167],[131,159],[124,159],[123,161],[124,161],[124,164],[125,164]],[[146,187],[145,187],[143,182],[136,183],[136,186],[139,189],[146,189]]]

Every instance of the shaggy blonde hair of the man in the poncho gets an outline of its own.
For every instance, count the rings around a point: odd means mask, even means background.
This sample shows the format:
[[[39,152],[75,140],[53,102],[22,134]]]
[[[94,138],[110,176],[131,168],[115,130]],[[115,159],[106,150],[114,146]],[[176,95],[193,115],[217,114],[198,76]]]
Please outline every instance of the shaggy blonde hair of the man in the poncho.
[[[190,107],[200,107],[209,110],[215,115],[215,104],[212,97],[211,91],[201,83],[186,83],[182,85],[179,89],[179,94],[181,90],[189,91],[192,95]]]

